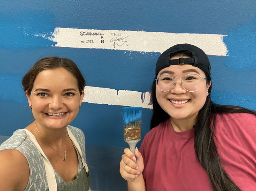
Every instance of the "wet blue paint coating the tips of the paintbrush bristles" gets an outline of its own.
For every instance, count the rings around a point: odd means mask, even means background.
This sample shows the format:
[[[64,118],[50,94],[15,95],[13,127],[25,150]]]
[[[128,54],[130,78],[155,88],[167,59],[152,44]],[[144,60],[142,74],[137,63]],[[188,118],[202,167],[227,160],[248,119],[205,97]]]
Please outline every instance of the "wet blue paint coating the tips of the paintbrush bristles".
[[[124,125],[133,121],[141,120],[142,108],[141,107],[123,107],[122,118]]]

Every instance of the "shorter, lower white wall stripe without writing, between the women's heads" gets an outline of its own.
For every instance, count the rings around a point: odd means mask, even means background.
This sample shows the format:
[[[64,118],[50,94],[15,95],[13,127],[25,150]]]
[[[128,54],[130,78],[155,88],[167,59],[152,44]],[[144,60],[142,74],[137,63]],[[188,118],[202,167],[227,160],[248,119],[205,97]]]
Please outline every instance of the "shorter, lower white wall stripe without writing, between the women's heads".
[[[129,90],[115,90],[109,88],[100,88],[85,86],[85,96],[83,102],[121,105],[131,107],[143,107],[152,109],[150,105],[150,92],[137,92]]]

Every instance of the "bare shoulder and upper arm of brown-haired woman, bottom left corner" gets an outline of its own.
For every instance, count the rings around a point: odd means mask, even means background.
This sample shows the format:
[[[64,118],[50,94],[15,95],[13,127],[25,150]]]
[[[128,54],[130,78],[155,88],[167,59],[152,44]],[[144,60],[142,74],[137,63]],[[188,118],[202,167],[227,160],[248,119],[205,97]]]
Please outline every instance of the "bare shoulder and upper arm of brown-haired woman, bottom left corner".
[[[18,150],[5,149],[0,151],[0,161],[1,190],[24,190],[29,179],[26,157]]]

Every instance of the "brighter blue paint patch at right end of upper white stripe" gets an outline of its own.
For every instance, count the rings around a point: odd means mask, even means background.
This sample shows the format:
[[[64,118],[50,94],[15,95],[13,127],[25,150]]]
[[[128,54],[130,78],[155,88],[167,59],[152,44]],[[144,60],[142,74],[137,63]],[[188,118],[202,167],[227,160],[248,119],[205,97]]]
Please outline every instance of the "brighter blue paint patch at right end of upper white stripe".
[[[250,70],[256,63],[256,17],[231,28],[223,41],[228,48],[225,64],[234,70]],[[254,55],[254,56],[252,56]]]

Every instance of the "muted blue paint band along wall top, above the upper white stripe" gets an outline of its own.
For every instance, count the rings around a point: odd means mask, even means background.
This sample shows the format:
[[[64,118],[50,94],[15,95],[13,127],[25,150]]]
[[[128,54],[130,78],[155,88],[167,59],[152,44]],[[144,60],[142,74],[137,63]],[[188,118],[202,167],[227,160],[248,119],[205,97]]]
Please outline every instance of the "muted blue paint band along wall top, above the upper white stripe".
[[[242,25],[255,15],[254,0],[1,0],[0,3],[1,12],[11,16],[27,17],[20,10],[28,14],[34,10],[53,15],[57,27],[99,30],[225,35],[234,24]],[[40,18],[38,22],[45,23]]]

